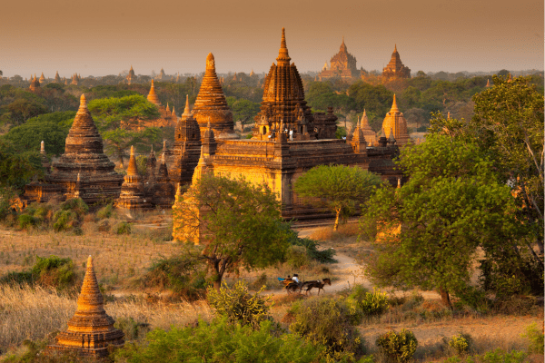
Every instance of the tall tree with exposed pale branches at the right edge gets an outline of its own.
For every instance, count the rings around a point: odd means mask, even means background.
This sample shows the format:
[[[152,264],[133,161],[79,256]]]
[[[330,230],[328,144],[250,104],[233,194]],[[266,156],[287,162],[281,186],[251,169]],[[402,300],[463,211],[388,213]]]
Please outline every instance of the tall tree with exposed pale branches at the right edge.
[[[494,166],[517,191],[523,218],[543,248],[544,137],[543,93],[531,77],[492,76],[494,86],[475,94],[475,115],[468,125],[483,150],[494,155]],[[467,127],[466,127],[467,128]]]

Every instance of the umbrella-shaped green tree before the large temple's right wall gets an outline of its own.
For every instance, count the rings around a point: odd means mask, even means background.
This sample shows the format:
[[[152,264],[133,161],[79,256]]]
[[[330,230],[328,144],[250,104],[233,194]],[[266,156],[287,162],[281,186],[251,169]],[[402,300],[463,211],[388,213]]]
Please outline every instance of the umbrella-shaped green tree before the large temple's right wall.
[[[339,219],[349,215],[367,201],[381,178],[359,167],[319,165],[305,172],[293,184],[293,191],[304,201],[326,206],[335,213],[333,230],[339,228]]]

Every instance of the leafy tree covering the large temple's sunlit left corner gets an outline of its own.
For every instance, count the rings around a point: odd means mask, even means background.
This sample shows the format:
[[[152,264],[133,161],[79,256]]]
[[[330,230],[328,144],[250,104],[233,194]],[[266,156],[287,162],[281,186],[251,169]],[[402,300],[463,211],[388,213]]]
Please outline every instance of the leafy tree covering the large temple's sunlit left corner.
[[[204,174],[174,204],[173,215],[174,232],[200,233],[201,258],[213,270],[218,290],[225,272],[269,266],[282,260],[290,245],[276,195],[243,179]]]

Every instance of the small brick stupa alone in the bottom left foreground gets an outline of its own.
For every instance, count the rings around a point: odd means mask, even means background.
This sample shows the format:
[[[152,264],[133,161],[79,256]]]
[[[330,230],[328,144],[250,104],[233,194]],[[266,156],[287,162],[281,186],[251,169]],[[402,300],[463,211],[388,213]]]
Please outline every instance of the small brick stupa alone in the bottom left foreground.
[[[124,333],[114,328],[114,319],[104,310],[104,298],[94,274],[93,259],[87,259],[82,292],[68,329],[60,332],[46,352],[76,350],[80,356],[104,358],[108,347],[123,347]]]

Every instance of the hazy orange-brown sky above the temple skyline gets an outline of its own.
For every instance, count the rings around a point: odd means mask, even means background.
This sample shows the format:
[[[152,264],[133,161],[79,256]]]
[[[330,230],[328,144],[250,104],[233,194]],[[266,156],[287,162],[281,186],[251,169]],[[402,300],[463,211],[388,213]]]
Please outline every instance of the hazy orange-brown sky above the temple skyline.
[[[543,70],[543,0],[15,0],[3,2],[0,69],[53,77],[268,72],[282,26],[300,72],[319,71],[342,35],[358,68],[397,44],[412,74]]]

